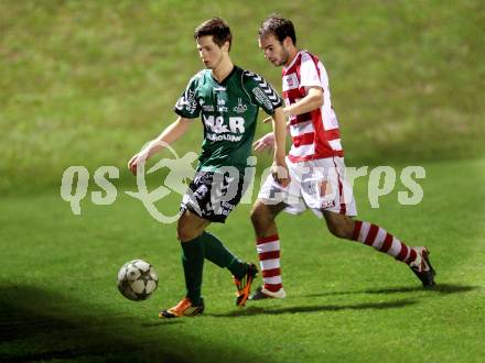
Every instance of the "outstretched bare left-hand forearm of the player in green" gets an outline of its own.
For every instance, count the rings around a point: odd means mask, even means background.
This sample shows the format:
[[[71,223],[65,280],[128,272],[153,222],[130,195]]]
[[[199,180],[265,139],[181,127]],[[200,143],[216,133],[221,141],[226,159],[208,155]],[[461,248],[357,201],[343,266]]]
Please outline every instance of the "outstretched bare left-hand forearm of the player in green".
[[[190,124],[190,119],[179,117],[157,139],[153,139],[142,151],[130,158],[128,162],[130,172],[136,175],[137,166],[140,162],[150,158],[153,154],[163,150],[165,145],[170,145],[179,140],[188,130]]]

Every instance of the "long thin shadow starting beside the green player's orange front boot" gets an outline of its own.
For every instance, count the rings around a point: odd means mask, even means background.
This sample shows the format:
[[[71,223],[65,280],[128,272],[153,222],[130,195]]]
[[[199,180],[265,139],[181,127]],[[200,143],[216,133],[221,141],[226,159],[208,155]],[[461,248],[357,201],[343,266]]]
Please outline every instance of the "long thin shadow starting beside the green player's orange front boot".
[[[257,304],[257,302],[256,302]],[[288,308],[271,309],[268,307],[250,306],[244,310],[231,311],[228,314],[208,314],[211,317],[247,317],[254,315],[281,315],[297,312],[320,312],[320,311],[340,311],[340,310],[367,310],[367,309],[396,309],[416,304],[414,300],[399,300],[387,302],[364,302],[355,305],[313,305],[313,306],[292,306]]]

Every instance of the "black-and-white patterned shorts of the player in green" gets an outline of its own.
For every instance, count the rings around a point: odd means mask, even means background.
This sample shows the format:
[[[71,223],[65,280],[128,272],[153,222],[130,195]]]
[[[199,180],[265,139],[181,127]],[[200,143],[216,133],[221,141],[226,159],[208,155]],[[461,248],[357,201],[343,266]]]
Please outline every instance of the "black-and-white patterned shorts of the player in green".
[[[180,209],[191,210],[212,222],[224,223],[245,191],[244,176],[229,177],[217,172],[197,172],[188,185]]]

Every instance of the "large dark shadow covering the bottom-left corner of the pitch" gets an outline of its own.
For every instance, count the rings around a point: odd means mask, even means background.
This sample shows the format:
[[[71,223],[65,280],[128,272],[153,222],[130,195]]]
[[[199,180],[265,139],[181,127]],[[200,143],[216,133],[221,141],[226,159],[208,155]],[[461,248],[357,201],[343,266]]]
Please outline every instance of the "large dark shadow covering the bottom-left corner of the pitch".
[[[152,324],[36,287],[0,285],[1,362],[200,362],[227,355],[239,362],[257,360],[180,332],[163,334],[173,323],[181,321]]]

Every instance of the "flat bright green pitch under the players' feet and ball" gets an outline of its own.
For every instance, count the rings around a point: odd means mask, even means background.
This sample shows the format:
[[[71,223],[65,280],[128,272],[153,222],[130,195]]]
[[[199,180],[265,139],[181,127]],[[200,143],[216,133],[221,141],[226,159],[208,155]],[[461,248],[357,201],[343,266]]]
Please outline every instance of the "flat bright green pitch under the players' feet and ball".
[[[111,206],[84,200],[80,216],[55,189],[3,198],[0,360],[479,362],[485,161],[424,167],[418,206],[397,204],[399,184],[379,209],[366,198],[367,178],[355,191],[360,218],[430,248],[435,289],[423,290],[406,265],[331,237],[312,215],[283,213],[289,297],[237,309],[229,273],[207,263],[204,316],[175,321],[157,318],[183,294],[175,226],[157,223],[121,193],[131,187],[120,187]],[[159,207],[173,212],[179,198],[171,195]],[[209,230],[255,260],[248,212],[240,205],[226,226]],[[160,275],[158,290],[143,302],[116,289],[118,268],[136,257]]]

